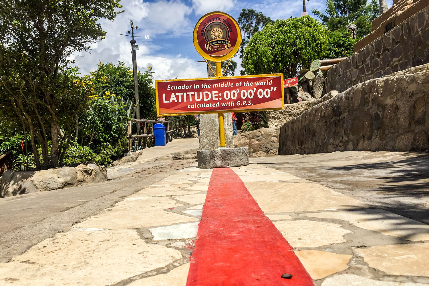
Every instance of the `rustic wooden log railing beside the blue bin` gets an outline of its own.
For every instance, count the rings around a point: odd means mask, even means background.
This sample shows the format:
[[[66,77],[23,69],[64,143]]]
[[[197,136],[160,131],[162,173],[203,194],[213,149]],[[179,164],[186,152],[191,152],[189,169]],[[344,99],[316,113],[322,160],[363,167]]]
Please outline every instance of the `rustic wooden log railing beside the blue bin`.
[[[142,134],[133,134],[133,123],[137,124],[143,124],[142,128],[140,128],[140,131]],[[147,141],[146,138],[154,136],[154,133],[146,134],[148,127],[152,127],[152,132],[154,131],[154,124],[156,123],[163,123],[166,132],[167,132],[167,143],[171,142],[173,140],[173,121],[172,120],[147,120],[147,119],[131,119],[128,121],[128,151],[132,150],[132,141],[133,138],[138,139],[138,146],[143,146],[143,148],[147,147]]]

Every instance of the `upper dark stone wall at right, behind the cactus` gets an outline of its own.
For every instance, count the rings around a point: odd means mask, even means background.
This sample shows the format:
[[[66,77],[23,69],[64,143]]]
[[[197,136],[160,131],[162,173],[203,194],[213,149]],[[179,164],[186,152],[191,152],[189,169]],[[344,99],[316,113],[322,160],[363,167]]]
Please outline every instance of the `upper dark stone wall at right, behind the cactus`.
[[[424,63],[429,63],[429,7],[329,69],[326,90],[342,92]]]

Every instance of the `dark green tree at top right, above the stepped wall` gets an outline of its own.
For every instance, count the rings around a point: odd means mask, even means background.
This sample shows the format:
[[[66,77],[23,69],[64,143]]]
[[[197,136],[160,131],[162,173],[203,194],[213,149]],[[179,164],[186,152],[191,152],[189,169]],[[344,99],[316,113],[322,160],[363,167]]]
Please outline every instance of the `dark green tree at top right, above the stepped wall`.
[[[356,24],[357,39],[361,39],[372,31],[372,20],[379,15],[377,0],[327,0],[325,12],[313,8],[322,24],[330,31],[346,29],[348,24]]]

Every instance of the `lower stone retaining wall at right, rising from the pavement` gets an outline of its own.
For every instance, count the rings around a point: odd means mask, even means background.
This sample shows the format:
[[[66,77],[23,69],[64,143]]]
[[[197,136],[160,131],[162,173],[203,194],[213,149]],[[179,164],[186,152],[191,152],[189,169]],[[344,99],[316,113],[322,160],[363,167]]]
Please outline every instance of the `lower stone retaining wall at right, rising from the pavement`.
[[[426,151],[429,71],[357,84],[289,120],[279,154]]]

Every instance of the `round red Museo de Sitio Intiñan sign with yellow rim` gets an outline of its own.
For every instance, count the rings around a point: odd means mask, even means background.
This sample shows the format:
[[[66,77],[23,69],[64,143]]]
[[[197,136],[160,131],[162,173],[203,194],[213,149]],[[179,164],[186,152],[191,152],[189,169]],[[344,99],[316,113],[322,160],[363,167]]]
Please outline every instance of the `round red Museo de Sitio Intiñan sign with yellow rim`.
[[[208,13],[196,24],[193,43],[196,51],[207,60],[229,60],[240,48],[239,24],[224,12]]]

